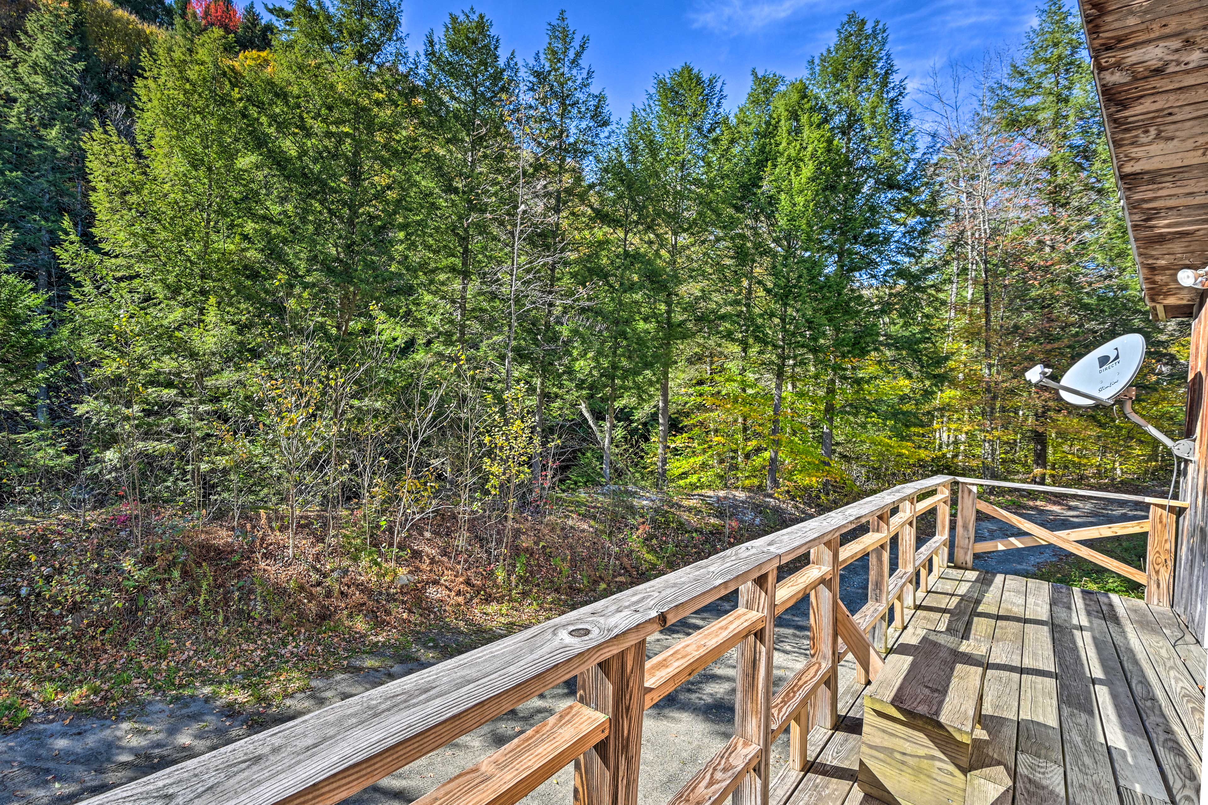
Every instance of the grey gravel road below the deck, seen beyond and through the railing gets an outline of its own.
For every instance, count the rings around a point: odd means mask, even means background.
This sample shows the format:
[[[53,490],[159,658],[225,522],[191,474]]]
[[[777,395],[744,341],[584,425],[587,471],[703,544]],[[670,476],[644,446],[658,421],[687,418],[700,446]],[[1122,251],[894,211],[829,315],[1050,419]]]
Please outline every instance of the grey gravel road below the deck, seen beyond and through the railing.
[[[1085,498],[1062,504],[1009,508],[1052,530],[1145,517],[1144,507]],[[928,533],[923,527],[920,532]],[[977,526],[978,539],[1012,533],[1018,531],[997,520],[978,523]],[[1040,546],[977,554],[976,567],[1027,574],[1063,553]],[[893,562],[896,566],[896,559]],[[867,560],[853,562],[843,571],[841,596],[853,611],[867,600]],[[736,596],[731,595],[680,620],[649,640],[649,653],[654,655],[663,651],[734,606]],[[359,658],[360,667],[314,679],[309,692],[265,712],[238,713],[204,699],[190,698],[173,705],[146,702],[122,713],[117,721],[75,716],[68,723],[63,718],[29,722],[16,733],[0,737],[0,746],[4,747],[0,752],[0,803],[79,801],[412,673],[447,653],[440,648],[434,646],[418,661],[397,661],[385,655]],[[808,603],[803,601],[777,619],[777,684],[801,667],[808,653],[809,616]],[[646,713],[643,745],[650,749],[646,757],[657,758],[657,762],[643,764],[643,801],[667,801],[730,739],[733,734],[733,695],[734,653],[731,652]],[[570,681],[347,801],[362,805],[410,803],[573,700],[574,681]],[[784,764],[786,756],[788,733],[773,749],[773,774]],[[524,801],[564,805],[570,801],[571,788],[573,774],[568,766]]]

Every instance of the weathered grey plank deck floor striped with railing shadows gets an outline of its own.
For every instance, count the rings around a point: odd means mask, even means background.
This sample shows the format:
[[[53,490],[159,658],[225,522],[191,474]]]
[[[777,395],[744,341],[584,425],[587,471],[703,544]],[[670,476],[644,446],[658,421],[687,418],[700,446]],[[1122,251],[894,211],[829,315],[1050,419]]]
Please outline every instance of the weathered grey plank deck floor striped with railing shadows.
[[[991,646],[968,805],[1198,805],[1206,654],[1171,609],[949,567],[906,614]],[[773,805],[876,801],[854,784],[863,687],[846,678],[840,723],[813,729]]]

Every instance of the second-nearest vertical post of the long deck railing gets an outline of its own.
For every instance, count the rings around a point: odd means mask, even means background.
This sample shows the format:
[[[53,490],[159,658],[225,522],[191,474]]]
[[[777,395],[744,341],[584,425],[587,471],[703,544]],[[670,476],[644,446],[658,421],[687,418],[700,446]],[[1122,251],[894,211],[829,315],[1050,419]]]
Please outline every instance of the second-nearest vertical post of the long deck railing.
[[[772,780],[772,652],[776,640],[776,568],[738,590],[738,606],[763,613],[763,628],[738,643],[734,735],[760,747],[755,774],[734,791],[734,805],[768,801]]]

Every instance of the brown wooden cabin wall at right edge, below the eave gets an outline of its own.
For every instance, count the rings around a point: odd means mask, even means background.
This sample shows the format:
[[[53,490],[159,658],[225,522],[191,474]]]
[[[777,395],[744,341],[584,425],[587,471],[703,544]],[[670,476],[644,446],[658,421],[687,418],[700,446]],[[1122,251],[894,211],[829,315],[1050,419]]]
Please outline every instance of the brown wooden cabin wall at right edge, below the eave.
[[[1187,420],[1185,433],[1196,439],[1196,460],[1185,462],[1183,494],[1190,503],[1181,518],[1174,562],[1174,611],[1187,626],[1204,640],[1208,620],[1208,406],[1204,406],[1204,381],[1208,379],[1208,314],[1197,305],[1191,325],[1191,354],[1187,361]]]

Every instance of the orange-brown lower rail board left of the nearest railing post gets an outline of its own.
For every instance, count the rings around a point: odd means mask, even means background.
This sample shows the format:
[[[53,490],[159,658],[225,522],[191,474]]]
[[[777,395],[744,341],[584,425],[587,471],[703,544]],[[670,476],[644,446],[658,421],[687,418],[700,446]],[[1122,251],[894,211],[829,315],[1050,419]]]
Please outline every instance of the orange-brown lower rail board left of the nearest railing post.
[[[416,805],[512,805],[609,735],[609,717],[575,702],[416,800]]]

